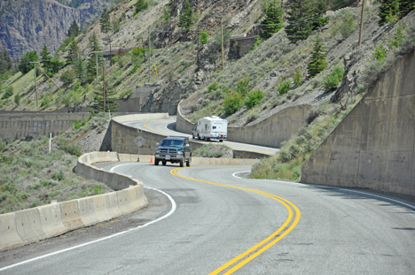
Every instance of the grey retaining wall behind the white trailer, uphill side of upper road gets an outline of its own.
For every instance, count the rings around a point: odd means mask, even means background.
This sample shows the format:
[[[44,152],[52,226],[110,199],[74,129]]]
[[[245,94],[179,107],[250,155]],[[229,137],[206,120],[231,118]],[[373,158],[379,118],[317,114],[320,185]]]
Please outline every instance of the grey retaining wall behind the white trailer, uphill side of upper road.
[[[236,141],[278,148],[281,142],[289,140],[301,127],[306,126],[306,118],[311,109],[308,104],[288,107],[270,118],[266,118],[253,126],[228,126],[228,141]],[[184,118],[177,106],[177,131],[192,134],[195,125]]]

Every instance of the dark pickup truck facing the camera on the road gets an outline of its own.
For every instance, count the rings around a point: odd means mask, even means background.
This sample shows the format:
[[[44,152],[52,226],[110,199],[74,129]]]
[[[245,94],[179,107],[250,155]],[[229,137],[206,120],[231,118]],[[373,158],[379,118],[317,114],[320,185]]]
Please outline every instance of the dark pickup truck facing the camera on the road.
[[[192,162],[192,146],[189,138],[180,136],[169,136],[157,143],[157,149],[154,155],[154,165],[159,163],[166,165],[180,164],[180,167],[190,166]]]

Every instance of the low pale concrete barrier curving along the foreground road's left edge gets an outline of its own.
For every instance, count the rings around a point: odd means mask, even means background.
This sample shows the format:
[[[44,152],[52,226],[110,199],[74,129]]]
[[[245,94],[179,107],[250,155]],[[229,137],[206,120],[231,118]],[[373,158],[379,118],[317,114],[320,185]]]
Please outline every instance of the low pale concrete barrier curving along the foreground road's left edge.
[[[116,153],[94,152],[78,158],[82,175],[101,175],[120,191],[0,215],[0,251],[51,238],[84,226],[90,226],[131,213],[147,205],[143,183],[119,173],[109,173],[91,164],[118,161]],[[79,166],[79,167],[78,167]]]

